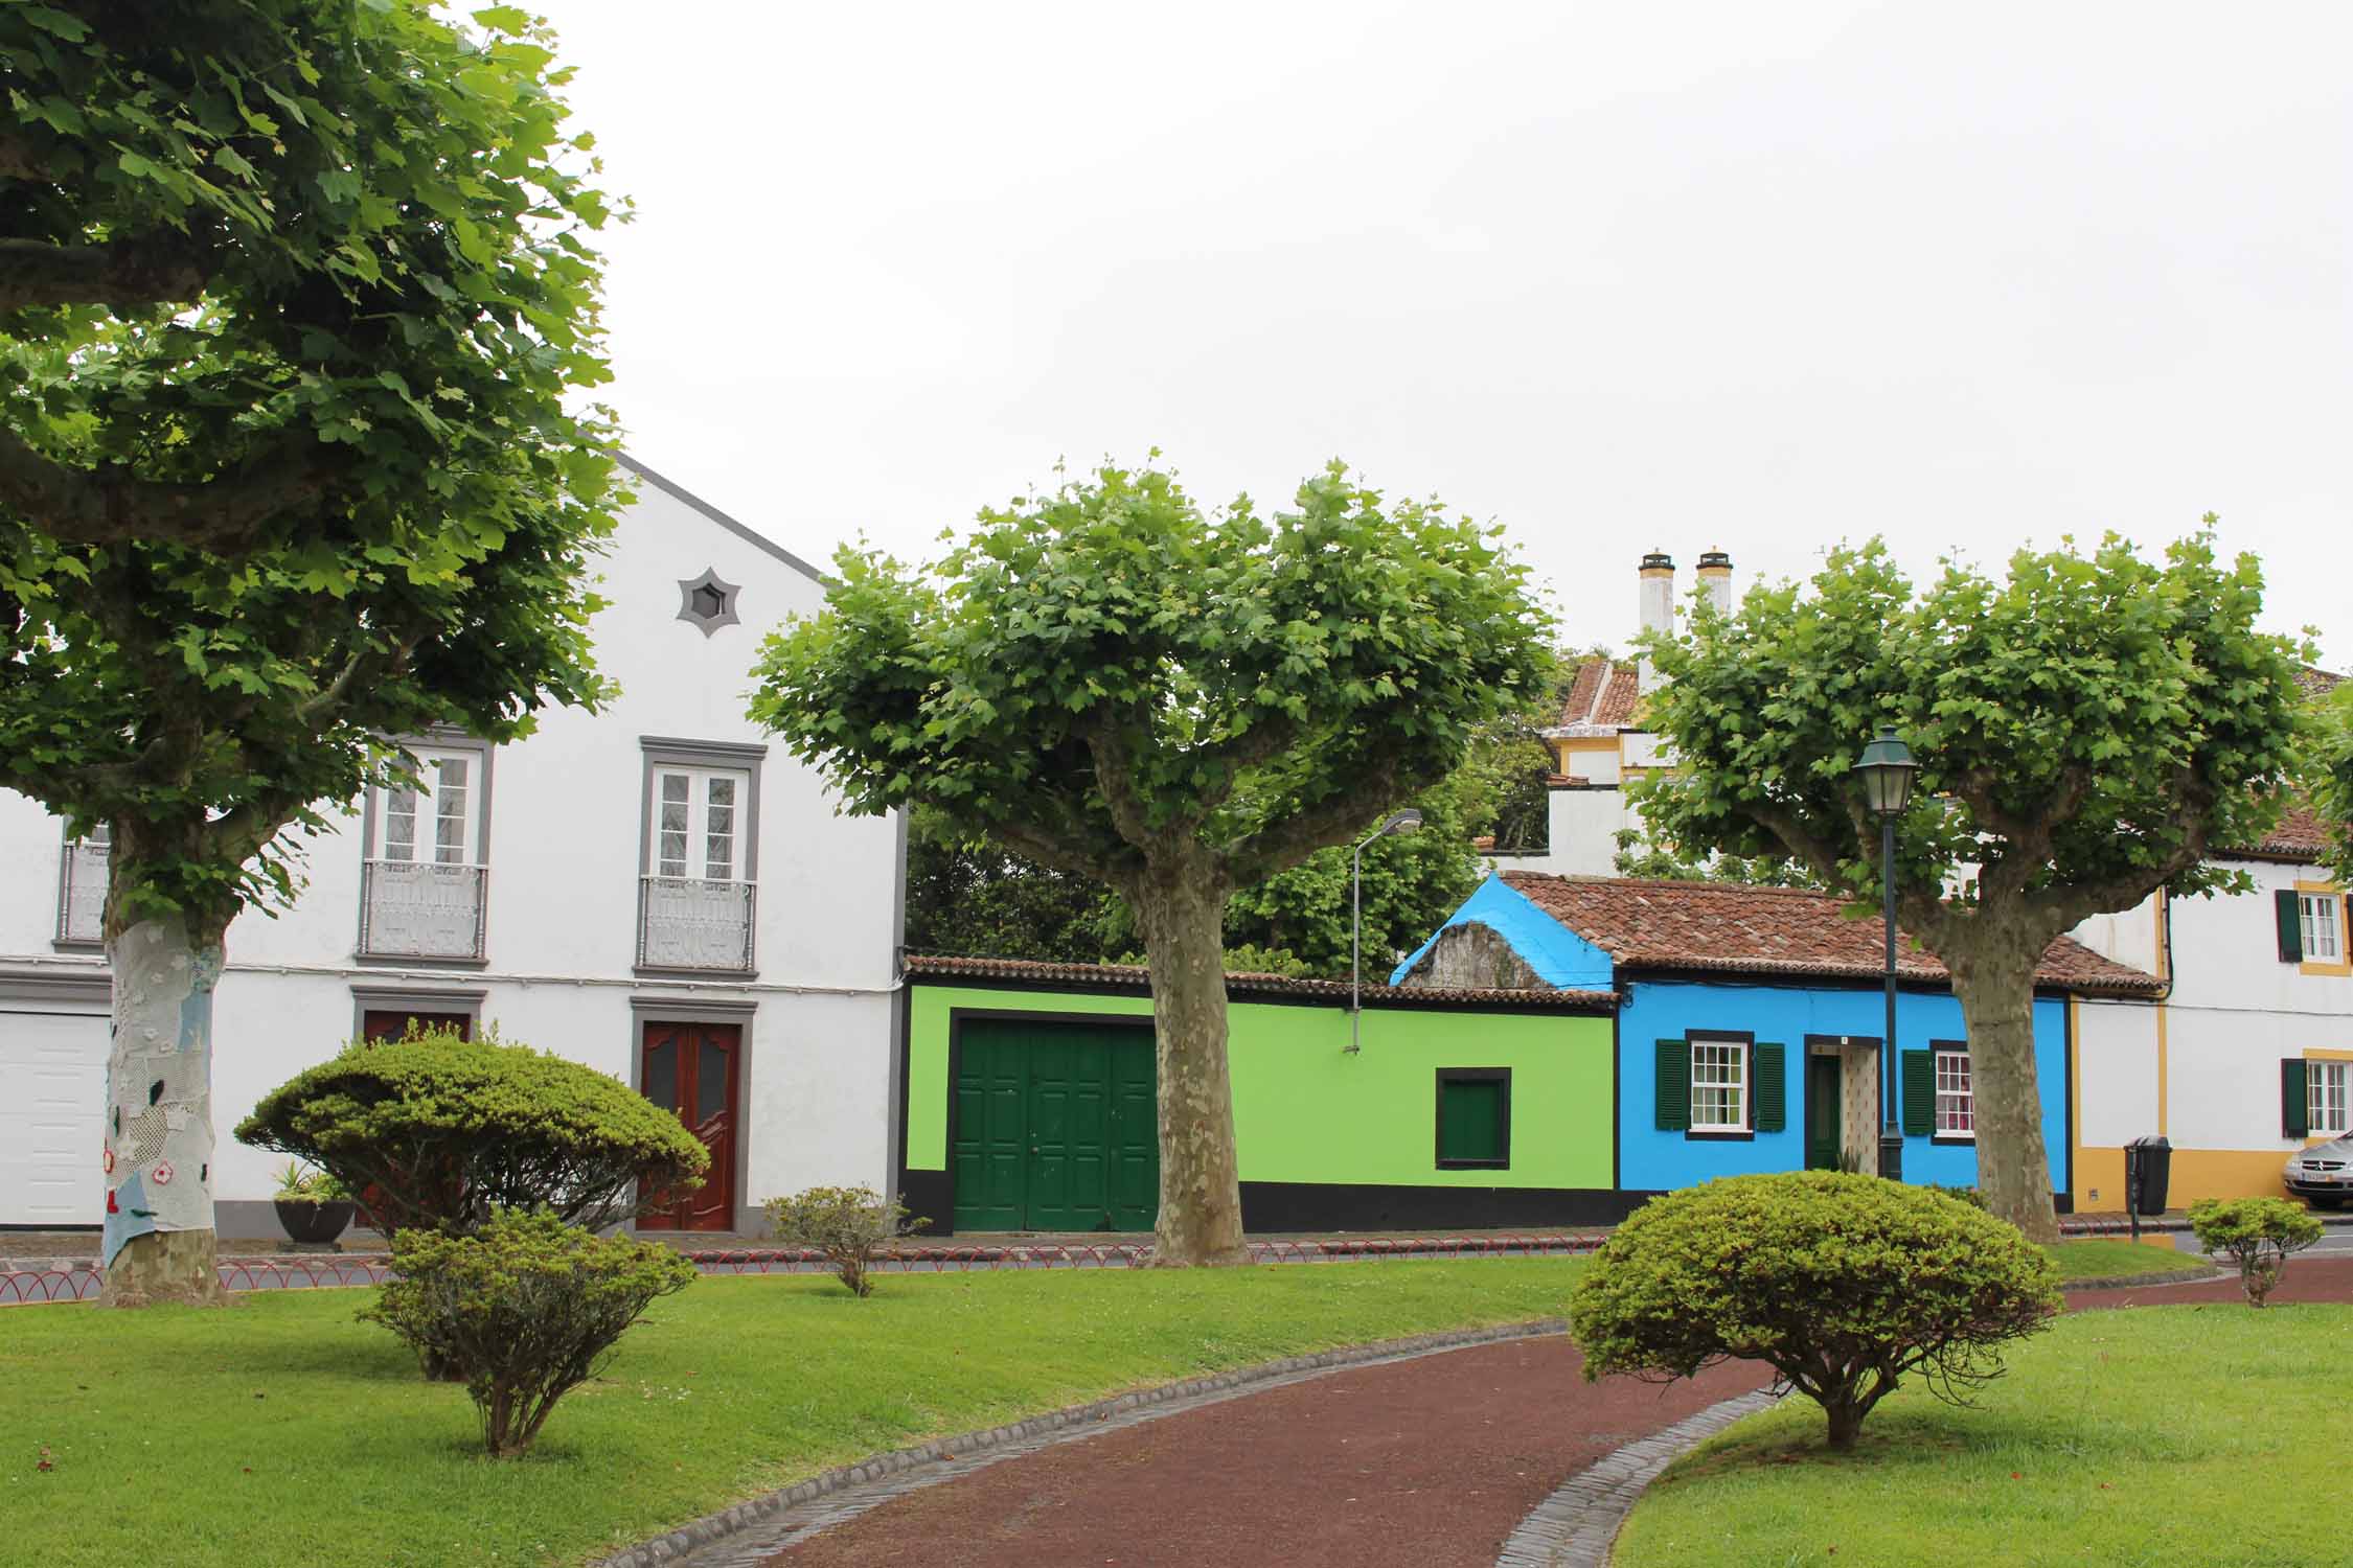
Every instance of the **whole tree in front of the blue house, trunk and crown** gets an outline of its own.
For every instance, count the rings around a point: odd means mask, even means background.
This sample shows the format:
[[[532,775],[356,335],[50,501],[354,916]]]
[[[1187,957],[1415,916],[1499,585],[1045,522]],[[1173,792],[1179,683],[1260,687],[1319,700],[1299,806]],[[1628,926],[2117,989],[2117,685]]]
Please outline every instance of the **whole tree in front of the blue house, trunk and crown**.
[[[1795,858],[1875,903],[1880,832],[1852,766],[1880,724],[1911,743],[1899,912],[1969,1020],[1988,1199],[2042,1239],[2035,964],[2158,886],[2245,886],[2207,851],[2261,842],[2301,736],[2299,646],[2257,630],[2261,599],[2254,557],[2219,562],[2209,534],[2162,564],[2113,536],[2021,550],[2002,581],[1946,562],[1918,592],[1871,541],[1833,550],[1809,590],[1760,585],[1649,644],[1666,679],[1647,722],[1675,771],[1642,811],[1682,856]]]

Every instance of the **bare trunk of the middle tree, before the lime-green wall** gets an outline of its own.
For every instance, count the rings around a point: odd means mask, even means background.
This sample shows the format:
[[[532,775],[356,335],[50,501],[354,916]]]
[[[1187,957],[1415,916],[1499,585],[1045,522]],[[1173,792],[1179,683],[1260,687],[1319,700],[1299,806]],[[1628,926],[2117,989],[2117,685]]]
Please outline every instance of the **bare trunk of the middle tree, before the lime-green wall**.
[[[1233,1157],[1226,1072],[1226,882],[1198,860],[1153,867],[1136,886],[1136,924],[1153,969],[1160,1053],[1162,1267],[1249,1262]]]

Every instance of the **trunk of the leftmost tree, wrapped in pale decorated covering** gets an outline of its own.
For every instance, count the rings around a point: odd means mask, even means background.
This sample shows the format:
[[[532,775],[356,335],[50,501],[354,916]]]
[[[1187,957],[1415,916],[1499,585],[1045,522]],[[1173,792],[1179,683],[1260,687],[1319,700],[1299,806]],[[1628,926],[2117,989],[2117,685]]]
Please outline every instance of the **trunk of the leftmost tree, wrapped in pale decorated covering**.
[[[120,853],[120,849],[118,849]],[[115,867],[122,886],[125,867]],[[115,929],[106,1056],[106,1300],[224,1305],[212,1237],[212,990],[226,926],[179,914]]]

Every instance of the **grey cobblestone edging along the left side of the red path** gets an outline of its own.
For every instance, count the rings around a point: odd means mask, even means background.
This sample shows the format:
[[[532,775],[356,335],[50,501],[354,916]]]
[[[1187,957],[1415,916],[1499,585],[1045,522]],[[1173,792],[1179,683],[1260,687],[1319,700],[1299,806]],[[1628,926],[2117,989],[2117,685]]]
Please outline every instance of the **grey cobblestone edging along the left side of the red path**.
[[[739,1502],[732,1509],[720,1509],[678,1530],[616,1552],[591,1563],[591,1568],[654,1568],[656,1563],[668,1568],[753,1568],[795,1540],[856,1519],[892,1497],[955,1481],[986,1465],[1038,1453],[1040,1448],[1118,1432],[1160,1420],[1162,1415],[1181,1415],[1344,1368],[1386,1366],[1391,1361],[1412,1361],[1473,1345],[1534,1340],[1565,1331],[1567,1324],[1558,1316],[1532,1324],[1494,1324],[1489,1328],[1449,1328],[1442,1333],[1417,1333],[1405,1340],[1322,1349],[1311,1356],[1285,1356],[1282,1361],[1245,1366],[1209,1378],[1186,1378],[1184,1382],[1167,1382],[1153,1389],[1134,1389],[1113,1399],[1049,1410],[1047,1415],[988,1427],[986,1432],[962,1432],[828,1469],[821,1476],[809,1476],[765,1497]]]

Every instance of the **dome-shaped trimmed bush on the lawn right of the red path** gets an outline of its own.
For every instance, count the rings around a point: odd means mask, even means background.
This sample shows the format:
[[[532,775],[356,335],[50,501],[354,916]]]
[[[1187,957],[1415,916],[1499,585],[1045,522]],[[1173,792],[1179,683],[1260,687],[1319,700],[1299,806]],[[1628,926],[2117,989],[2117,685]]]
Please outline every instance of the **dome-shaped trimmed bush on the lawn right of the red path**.
[[[2057,1272],[2014,1225],[1878,1175],[1791,1171],[1638,1208],[1577,1284],[1569,1333],[1586,1380],[1765,1361],[1847,1450],[1901,1378],[1967,1403],[2002,1373],[1998,1347],[2057,1312]]]

